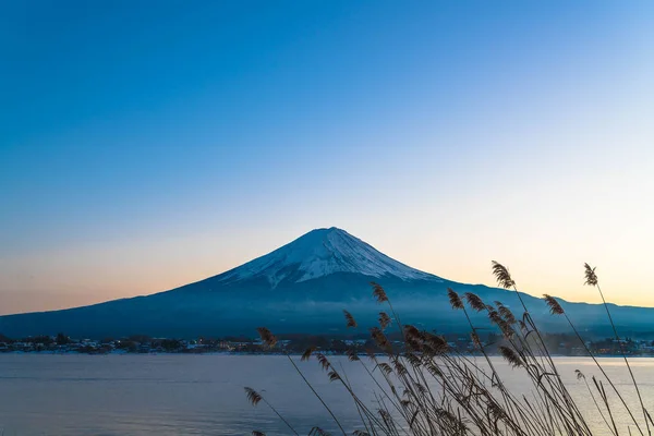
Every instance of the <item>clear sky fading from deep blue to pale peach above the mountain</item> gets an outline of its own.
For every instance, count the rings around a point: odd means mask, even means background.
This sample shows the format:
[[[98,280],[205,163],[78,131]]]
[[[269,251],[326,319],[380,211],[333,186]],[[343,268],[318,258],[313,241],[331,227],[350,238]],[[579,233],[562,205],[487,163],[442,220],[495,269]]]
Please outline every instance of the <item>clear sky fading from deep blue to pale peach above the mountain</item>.
[[[0,313],[147,294],[318,227],[654,306],[652,1],[0,5]]]

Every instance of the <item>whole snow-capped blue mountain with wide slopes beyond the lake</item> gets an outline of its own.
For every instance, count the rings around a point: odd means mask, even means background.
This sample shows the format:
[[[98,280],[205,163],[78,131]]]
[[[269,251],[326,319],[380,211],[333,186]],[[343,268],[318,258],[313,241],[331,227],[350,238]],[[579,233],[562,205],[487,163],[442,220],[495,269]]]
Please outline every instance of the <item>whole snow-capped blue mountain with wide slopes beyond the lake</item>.
[[[77,338],[148,335],[254,336],[258,326],[279,334],[346,334],[342,310],[361,325],[373,325],[385,307],[371,298],[370,282],[385,287],[402,322],[441,332],[467,331],[452,311],[447,289],[474,292],[486,303],[501,301],[522,313],[514,292],[458,283],[395,261],[337,228],[316,229],[274,252],[220,275],[147,296],[109,301],[63,311],[5,315],[0,332],[9,337],[56,335]],[[545,330],[564,330],[541,299],[522,294]],[[577,326],[591,334],[608,331],[604,307],[561,305]],[[654,331],[654,308],[613,306],[623,334]],[[486,323],[481,315],[474,322]]]

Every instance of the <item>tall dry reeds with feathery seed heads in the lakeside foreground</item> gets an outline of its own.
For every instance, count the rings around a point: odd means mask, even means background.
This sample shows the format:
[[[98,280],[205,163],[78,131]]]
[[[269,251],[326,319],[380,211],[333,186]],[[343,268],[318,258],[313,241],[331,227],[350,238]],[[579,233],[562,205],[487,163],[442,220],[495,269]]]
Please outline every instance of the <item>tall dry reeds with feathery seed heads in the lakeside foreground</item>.
[[[588,264],[584,267],[586,284],[596,287],[600,291],[615,337],[619,341],[595,270]],[[586,347],[585,351],[604,377],[600,379],[593,376],[591,384],[583,373],[576,372],[577,378],[585,384],[596,412],[605,424],[605,427],[601,429],[591,429],[588,416],[591,412],[582,412],[570,396],[509,270],[501,264],[493,262],[493,274],[500,287],[517,293],[522,305],[520,316],[516,316],[501,302],[488,304],[474,293],[468,292],[461,296],[456,290],[448,289],[452,310],[463,313],[470,327],[472,343],[476,353],[484,358],[485,366],[477,364],[465,353],[450,349],[445,338],[420,330],[412,325],[403,325],[392,308],[386,290],[378,283],[371,283],[373,296],[378,304],[388,306],[388,313],[380,312],[379,325],[370,329],[377,350],[368,350],[367,358],[363,359],[353,350],[347,353],[348,359],[362,365],[365,374],[374,382],[374,386],[377,388],[374,408],[359,397],[346,375],[331,364],[327,355],[317,352],[315,348],[308,348],[302,354],[301,361],[315,358],[327,373],[329,380],[340,384],[344,393],[353,400],[353,407],[356,408],[361,419],[360,427],[362,429],[353,431],[350,434],[356,436],[583,436],[611,434],[618,436],[638,433],[651,436],[650,424],[654,425],[654,423],[643,404],[625,352],[622,351],[622,356],[635,387],[642,408],[642,417],[638,419],[632,413],[621,392]],[[564,316],[585,347],[574,324],[556,299],[549,295],[544,295],[544,299],[552,315]],[[472,322],[469,311],[484,313],[500,331],[502,337],[502,343],[498,347],[500,355],[514,371],[521,371],[526,375],[532,385],[530,397],[507,387],[486,351],[486,344],[480,339],[479,329]],[[347,327],[356,328],[358,323],[354,316],[348,311],[343,312]],[[401,334],[401,347],[399,348],[393,347],[388,338],[391,329]],[[259,328],[258,332],[265,346],[270,348],[276,346],[277,339],[268,329]],[[289,354],[287,358],[325,407],[340,432],[346,435],[347,432],[338,417],[306,379],[293,358]],[[373,375],[375,371],[378,372],[382,380]],[[605,384],[610,386],[608,392],[604,387]],[[256,405],[259,401],[264,401],[292,433],[298,434],[292,424],[281,416],[259,392],[251,388],[245,388],[245,391],[252,404]],[[631,421],[626,427],[621,427],[615,420],[616,399],[619,400],[619,407],[626,410]],[[325,434],[319,427],[314,427],[310,432],[310,436]],[[263,433],[253,432],[253,435],[262,436]]]

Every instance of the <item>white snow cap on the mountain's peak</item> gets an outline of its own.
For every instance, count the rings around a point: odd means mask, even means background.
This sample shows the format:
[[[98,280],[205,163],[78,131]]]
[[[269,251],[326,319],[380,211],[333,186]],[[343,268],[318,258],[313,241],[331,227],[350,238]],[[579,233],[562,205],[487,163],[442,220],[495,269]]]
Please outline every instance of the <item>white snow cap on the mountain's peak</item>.
[[[301,282],[335,272],[402,280],[440,280],[378,252],[344,230],[316,229],[282,247],[220,276],[221,281],[264,277],[276,287],[282,280]]]

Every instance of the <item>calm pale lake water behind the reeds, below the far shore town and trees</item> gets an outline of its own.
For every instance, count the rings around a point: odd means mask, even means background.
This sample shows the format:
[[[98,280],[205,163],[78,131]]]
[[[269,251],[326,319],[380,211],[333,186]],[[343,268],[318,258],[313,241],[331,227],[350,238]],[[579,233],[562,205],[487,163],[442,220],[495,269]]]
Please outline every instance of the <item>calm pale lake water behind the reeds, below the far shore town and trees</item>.
[[[529,390],[520,370],[494,359],[505,380]],[[590,411],[594,416],[590,421],[600,426],[585,385],[574,376],[577,368],[596,374],[592,362],[556,361],[580,408]],[[629,402],[638,404],[623,361],[601,361]],[[645,405],[654,410],[654,359],[630,362]],[[374,384],[361,365],[344,358],[332,358],[332,363],[343,365],[354,390],[372,403]],[[356,411],[342,386],[330,384],[315,360],[298,364],[344,426],[354,428]],[[253,429],[268,436],[288,434],[265,404],[254,408],[246,401],[244,386],[263,391],[301,434],[314,425],[334,429],[284,356],[216,354],[0,354],[0,428],[4,436],[247,435]]]

